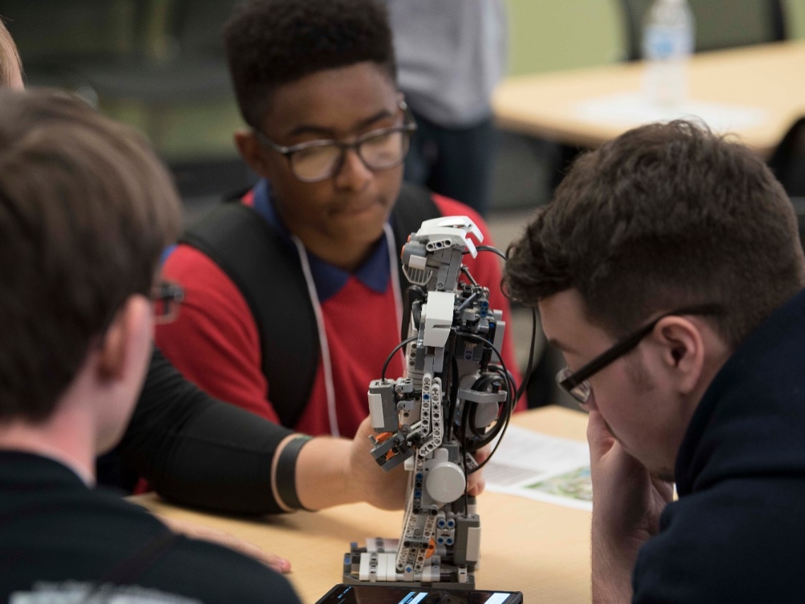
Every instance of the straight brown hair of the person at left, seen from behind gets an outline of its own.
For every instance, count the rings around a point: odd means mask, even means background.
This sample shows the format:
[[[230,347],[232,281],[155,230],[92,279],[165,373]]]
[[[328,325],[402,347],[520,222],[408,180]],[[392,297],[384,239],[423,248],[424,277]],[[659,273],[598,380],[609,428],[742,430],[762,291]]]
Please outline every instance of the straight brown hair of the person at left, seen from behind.
[[[142,137],[84,101],[0,90],[0,420],[47,420],[180,225]]]

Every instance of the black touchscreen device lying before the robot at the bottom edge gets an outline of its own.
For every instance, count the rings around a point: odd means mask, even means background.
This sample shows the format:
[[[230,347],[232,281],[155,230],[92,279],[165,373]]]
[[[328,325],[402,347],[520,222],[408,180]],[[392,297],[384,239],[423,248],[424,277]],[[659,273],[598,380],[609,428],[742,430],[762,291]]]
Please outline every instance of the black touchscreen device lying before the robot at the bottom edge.
[[[437,586],[345,585],[329,590],[316,604],[518,604],[519,591],[445,590]]]

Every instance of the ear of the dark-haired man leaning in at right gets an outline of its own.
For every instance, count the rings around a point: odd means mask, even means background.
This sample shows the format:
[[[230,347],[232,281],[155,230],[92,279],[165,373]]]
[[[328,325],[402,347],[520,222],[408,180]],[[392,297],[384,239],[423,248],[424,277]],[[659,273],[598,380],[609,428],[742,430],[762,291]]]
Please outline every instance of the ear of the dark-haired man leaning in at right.
[[[652,332],[660,346],[662,362],[674,377],[680,394],[688,395],[699,385],[704,372],[704,337],[696,323],[683,316],[667,316]]]

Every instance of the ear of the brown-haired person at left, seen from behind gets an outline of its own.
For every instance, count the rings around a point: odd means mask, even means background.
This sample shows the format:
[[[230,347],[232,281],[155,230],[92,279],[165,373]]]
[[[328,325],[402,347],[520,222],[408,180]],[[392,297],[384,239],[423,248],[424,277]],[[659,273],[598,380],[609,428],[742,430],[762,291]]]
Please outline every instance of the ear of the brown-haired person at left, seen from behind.
[[[145,296],[129,296],[106,330],[97,355],[98,378],[121,380],[137,370],[143,348],[150,347],[154,320]]]

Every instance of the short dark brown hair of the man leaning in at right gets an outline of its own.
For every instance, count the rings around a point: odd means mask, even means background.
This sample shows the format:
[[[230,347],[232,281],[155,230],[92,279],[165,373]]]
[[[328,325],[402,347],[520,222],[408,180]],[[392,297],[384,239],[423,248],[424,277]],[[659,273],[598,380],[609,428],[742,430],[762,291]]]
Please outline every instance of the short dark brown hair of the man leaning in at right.
[[[509,255],[515,299],[576,288],[617,336],[657,312],[720,304],[713,321],[734,347],[805,284],[795,213],[766,164],[683,121],[577,159]]]

